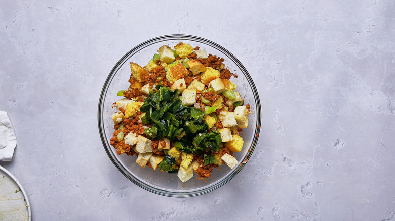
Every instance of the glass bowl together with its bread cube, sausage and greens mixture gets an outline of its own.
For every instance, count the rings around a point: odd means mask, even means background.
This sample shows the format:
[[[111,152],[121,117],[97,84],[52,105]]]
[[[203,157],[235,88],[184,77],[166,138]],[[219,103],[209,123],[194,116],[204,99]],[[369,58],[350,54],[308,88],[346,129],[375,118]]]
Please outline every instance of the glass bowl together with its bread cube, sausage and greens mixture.
[[[258,92],[245,67],[201,37],[166,35],[121,58],[99,100],[115,167],[150,192],[189,197],[238,174],[259,137]]]

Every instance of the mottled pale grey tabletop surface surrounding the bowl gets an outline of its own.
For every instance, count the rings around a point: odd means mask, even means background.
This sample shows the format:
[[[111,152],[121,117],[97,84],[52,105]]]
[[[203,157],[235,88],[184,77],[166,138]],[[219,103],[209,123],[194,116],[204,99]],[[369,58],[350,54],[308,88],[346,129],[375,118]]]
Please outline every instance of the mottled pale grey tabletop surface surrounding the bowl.
[[[392,220],[394,4],[2,1],[0,109],[18,145],[0,165],[24,186],[33,220]],[[177,33],[230,50],[262,103],[243,171],[186,199],[127,180],[97,127],[113,65]]]

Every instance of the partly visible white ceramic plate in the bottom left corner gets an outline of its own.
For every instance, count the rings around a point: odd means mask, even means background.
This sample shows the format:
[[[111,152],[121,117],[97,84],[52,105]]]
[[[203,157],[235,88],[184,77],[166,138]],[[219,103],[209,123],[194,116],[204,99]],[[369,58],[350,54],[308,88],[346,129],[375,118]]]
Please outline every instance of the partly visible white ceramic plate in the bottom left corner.
[[[29,200],[19,181],[0,166],[0,220],[31,220]]]

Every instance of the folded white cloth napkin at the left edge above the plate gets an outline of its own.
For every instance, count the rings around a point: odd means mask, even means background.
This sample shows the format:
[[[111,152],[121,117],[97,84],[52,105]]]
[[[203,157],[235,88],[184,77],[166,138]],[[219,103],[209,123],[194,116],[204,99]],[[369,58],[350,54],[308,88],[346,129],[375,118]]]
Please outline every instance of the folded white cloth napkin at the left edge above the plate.
[[[0,160],[11,161],[16,147],[14,128],[7,112],[0,111]]]

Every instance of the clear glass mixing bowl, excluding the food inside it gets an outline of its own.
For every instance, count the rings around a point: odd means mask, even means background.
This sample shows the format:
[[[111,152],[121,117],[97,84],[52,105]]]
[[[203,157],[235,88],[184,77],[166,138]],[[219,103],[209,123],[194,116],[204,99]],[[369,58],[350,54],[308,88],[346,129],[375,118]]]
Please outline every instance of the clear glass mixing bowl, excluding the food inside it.
[[[130,62],[145,66],[157,49],[162,45],[174,47],[177,43],[189,43],[192,47],[199,46],[200,49],[206,49],[207,53],[216,55],[225,59],[223,62],[225,67],[232,73],[237,74],[238,78],[232,77],[230,80],[237,85],[236,91],[244,98],[245,105],[250,104],[251,114],[249,117],[248,128],[243,129],[244,146],[241,152],[235,152],[234,157],[238,159],[239,164],[230,169],[226,164],[220,165],[219,170],[215,169],[211,173],[211,177],[205,179],[196,179],[198,176],[194,173],[193,178],[182,183],[177,174],[169,174],[160,170],[152,170],[152,168],[141,168],[137,164],[136,156],[117,155],[114,147],[110,145],[110,138],[114,132],[114,123],[111,114],[115,113],[112,104],[122,97],[117,96],[120,90],[129,88],[128,79],[131,74]],[[201,37],[190,35],[166,35],[156,37],[145,41],[125,54],[108,75],[102,92],[100,94],[98,107],[98,124],[100,137],[103,142],[105,151],[114,163],[115,167],[125,175],[130,181],[137,186],[151,191],[156,194],[171,197],[190,197],[201,195],[213,191],[238,174],[244,167],[245,163],[251,157],[256,146],[261,123],[261,106],[259,102],[258,92],[253,80],[247,70],[236,59],[233,54],[222,46],[206,40]],[[207,182],[206,182],[207,181]]]

